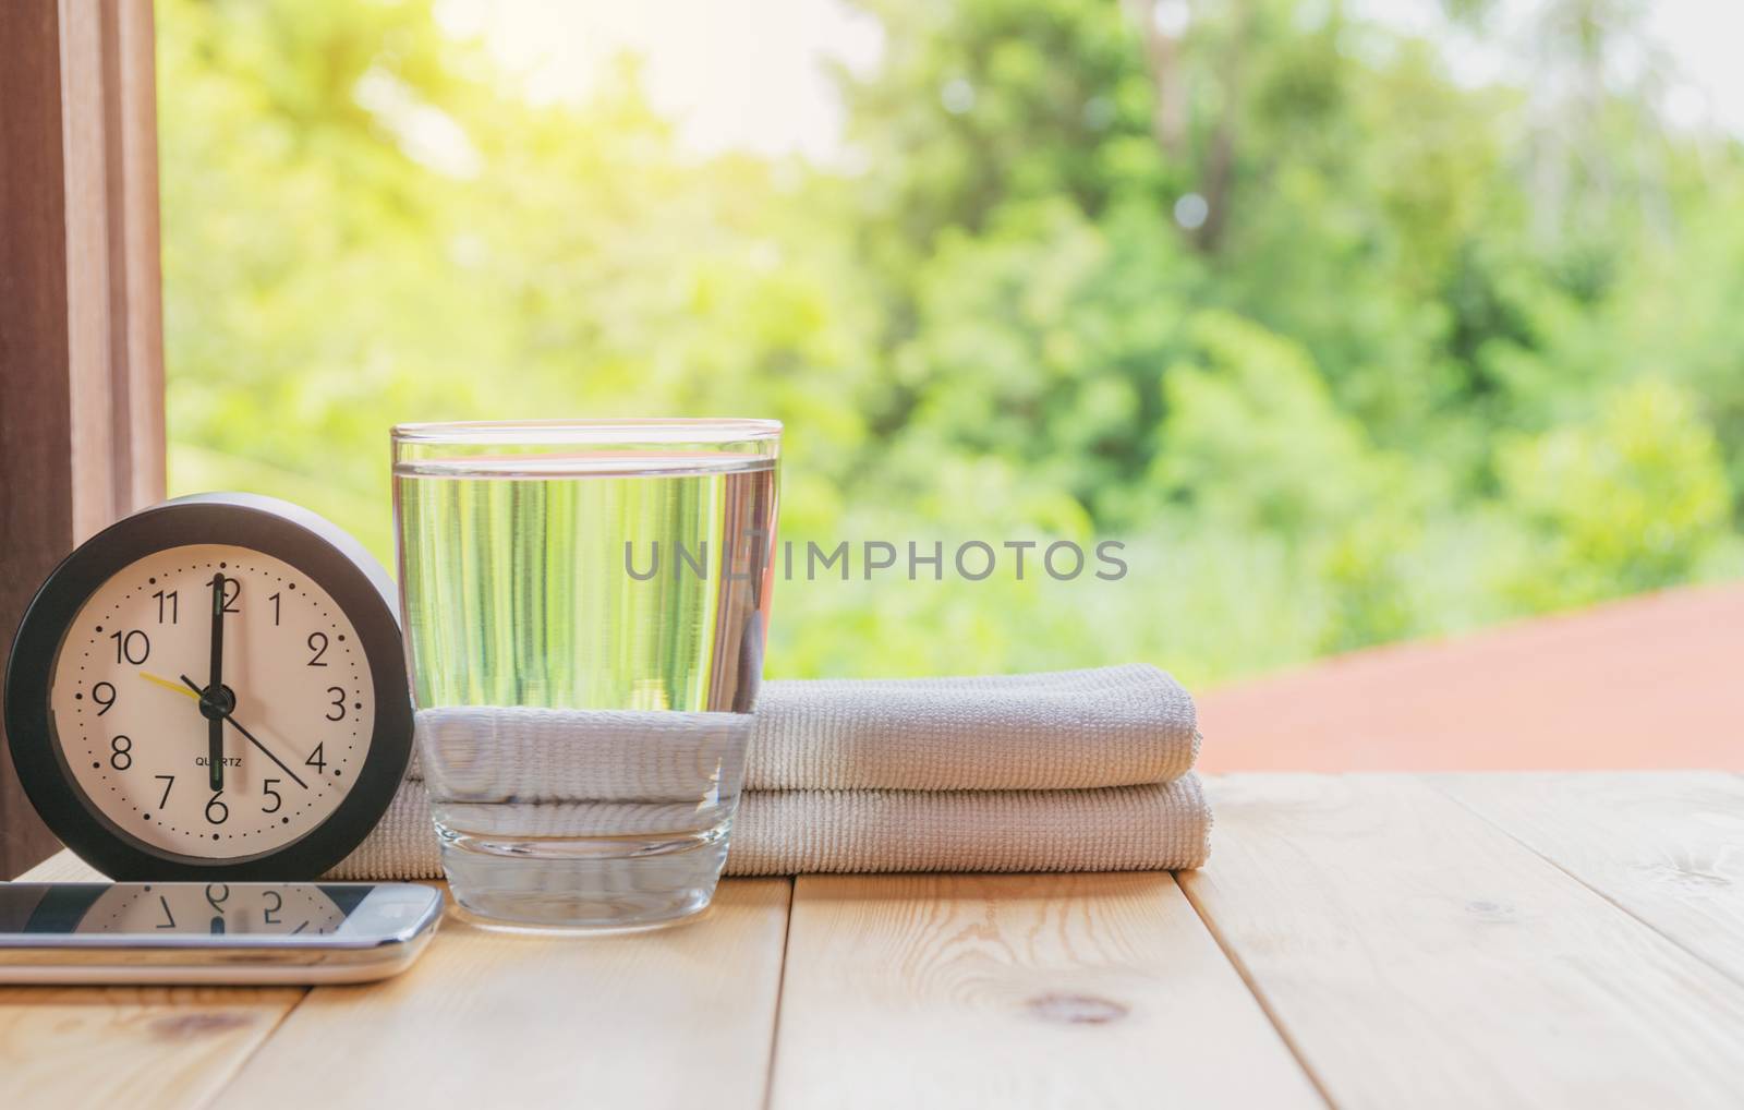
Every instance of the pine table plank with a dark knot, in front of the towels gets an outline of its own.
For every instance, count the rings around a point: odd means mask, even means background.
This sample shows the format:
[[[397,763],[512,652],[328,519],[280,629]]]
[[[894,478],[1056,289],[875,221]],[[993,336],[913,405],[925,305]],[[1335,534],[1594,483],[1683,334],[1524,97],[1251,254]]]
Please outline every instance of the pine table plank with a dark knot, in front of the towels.
[[[771,1105],[1320,1107],[1167,873],[800,876]]]

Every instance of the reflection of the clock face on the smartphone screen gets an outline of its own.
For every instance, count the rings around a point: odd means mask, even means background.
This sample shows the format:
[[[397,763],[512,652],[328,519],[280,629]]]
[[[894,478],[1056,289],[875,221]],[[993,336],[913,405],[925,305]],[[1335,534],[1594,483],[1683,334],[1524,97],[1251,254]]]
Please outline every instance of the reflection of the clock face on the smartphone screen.
[[[310,883],[115,883],[78,932],[321,935],[344,922],[345,911]]]

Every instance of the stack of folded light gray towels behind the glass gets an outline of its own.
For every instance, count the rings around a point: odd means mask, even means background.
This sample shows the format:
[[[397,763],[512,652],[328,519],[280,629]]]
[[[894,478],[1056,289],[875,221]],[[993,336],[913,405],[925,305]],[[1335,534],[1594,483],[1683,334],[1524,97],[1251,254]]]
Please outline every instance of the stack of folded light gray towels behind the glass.
[[[694,752],[664,740],[675,773],[715,752],[705,717],[671,714]],[[610,714],[436,709],[420,747],[490,728],[488,773],[516,798],[610,798],[626,743]],[[828,871],[1134,871],[1198,867],[1210,806],[1193,775],[1193,700],[1168,674],[1106,667],[968,679],[764,684],[750,728],[729,874]],[[645,757],[637,789],[647,791]],[[462,768],[462,773],[469,768]],[[453,777],[452,761],[441,773]],[[439,878],[415,761],[375,832],[331,878]]]

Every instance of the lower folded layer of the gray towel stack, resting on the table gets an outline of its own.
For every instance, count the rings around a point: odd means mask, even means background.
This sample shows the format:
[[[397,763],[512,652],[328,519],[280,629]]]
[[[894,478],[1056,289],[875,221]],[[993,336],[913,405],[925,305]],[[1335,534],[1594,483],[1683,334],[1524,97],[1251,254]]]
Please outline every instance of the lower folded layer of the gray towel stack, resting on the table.
[[[1090,791],[750,791],[731,845],[727,874],[1172,871],[1210,853],[1210,806],[1191,773]],[[422,784],[330,878],[441,878]]]

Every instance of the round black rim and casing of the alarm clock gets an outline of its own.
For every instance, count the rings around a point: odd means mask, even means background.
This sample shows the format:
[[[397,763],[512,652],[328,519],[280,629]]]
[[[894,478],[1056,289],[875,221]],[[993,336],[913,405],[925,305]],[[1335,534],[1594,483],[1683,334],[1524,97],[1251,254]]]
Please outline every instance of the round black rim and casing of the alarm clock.
[[[201,543],[258,550],[319,583],[356,625],[375,691],[370,750],[333,813],[288,845],[221,860],[166,852],[117,827],[77,785],[49,712],[56,656],[98,586],[153,552]],[[113,880],[319,878],[380,822],[412,759],[412,695],[387,576],[342,529],[272,497],[202,494],[126,517],[63,558],[24,611],[7,661],[5,731],[19,784],[44,824]]]

